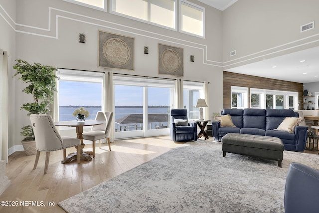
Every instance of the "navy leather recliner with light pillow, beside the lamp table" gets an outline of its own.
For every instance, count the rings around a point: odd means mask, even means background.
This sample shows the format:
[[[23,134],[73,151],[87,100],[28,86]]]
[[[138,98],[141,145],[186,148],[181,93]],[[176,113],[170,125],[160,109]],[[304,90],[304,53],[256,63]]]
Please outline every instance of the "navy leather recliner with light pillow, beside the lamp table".
[[[188,123],[187,109],[172,109],[170,115],[170,138],[173,141],[197,141],[197,124]]]

